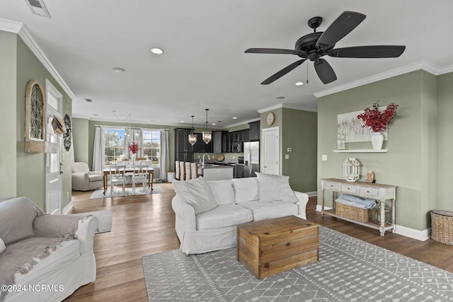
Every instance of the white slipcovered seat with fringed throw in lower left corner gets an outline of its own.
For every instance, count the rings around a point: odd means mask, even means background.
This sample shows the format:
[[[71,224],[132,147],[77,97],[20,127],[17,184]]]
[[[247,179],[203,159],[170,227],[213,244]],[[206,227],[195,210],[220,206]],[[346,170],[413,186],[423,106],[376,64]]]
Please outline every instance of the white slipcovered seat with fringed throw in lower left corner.
[[[11,289],[0,291],[4,301],[62,301],[95,281],[93,239],[97,228],[94,216],[43,214],[26,197],[0,202],[0,241],[6,244],[3,251],[0,246],[0,270],[11,270],[11,274],[0,272],[0,280],[10,277],[9,282],[0,282]],[[24,250],[32,249],[33,255],[40,255],[27,256],[29,260],[21,262],[24,274],[16,266],[8,267]]]

